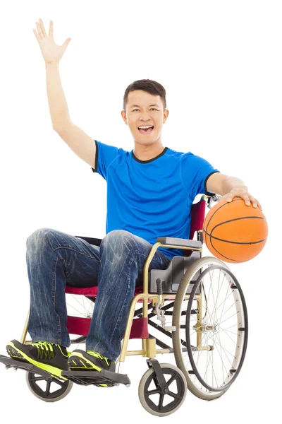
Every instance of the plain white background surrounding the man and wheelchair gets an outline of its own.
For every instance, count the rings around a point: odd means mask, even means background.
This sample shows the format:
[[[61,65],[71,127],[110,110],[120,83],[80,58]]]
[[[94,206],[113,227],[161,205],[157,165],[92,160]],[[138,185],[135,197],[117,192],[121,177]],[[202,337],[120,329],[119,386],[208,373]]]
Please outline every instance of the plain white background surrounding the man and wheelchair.
[[[214,402],[188,391],[164,420],[271,419],[281,363],[281,2],[10,1],[1,12],[1,353],[20,338],[29,306],[27,237],[45,227],[99,238],[106,231],[105,180],[52,130],[44,59],[32,32],[42,18],[48,34],[52,19],[57,44],[72,38],[60,75],[76,125],[131,151],[121,118],[125,88],[137,79],[158,81],[170,111],[163,146],[192,151],[243,179],[262,204],[269,224],[264,250],[230,265],[250,324],[240,375]],[[137,394],[145,358],[128,357],[124,366],[128,389],[74,385],[65,399],[47,404],[27,389],[25,372],[3,365],[1,419],[22,419],[22,412],[40,420],[153,422]]]

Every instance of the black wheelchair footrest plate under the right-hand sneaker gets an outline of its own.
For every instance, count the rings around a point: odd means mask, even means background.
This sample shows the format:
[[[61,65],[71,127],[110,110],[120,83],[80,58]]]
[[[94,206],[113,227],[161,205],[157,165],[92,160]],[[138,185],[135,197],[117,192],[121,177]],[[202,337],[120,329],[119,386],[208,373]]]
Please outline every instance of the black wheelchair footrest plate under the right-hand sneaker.
[[[118,374],[118,372],[112,371],[63,371],[61,373],[63,377],[70,379],[76,384],[82,384],[87,386],[89,384],[109,384],[109,385],[117,385],[117,384],[125,384],[125,386],[129,386],[130,379],[126,374]]]

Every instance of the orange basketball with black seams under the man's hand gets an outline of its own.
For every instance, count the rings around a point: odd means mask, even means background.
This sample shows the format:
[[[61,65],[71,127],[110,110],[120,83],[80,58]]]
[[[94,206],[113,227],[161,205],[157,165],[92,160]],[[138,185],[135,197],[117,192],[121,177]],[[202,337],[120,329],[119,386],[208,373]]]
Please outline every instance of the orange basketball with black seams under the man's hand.
[[[204,242],[209,252],[225,262],[250,261],[262,251],[267,235],[262,211],[252,202],[247,206],[239,196],[231,202],[221,199],[204,219]]]

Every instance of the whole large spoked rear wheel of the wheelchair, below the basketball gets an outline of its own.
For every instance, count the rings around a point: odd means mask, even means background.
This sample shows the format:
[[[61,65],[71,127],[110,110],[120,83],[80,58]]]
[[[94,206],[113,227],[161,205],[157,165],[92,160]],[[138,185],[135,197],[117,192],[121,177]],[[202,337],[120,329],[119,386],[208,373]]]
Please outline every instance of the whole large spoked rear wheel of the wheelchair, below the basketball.
[[[190,284],[190,298],[185,300]],[[248,331],[242,289],[223,261],[203,257],[185,272],[176,294],[173,325],[176,365],[188,389],[200,399],[219,398],[238,377]]]

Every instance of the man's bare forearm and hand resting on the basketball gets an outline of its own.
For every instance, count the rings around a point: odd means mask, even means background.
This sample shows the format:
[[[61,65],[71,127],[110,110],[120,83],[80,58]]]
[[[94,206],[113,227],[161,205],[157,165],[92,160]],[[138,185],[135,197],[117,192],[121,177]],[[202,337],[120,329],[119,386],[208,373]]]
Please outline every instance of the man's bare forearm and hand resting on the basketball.
[[[232,201],[233,197],[239,196],[245,200],[247,206],[250,206],[250,201],[252,201],[252,206],[255,208],[259,206],[262,210],[259,201],[249,193],[245,182],[236,177],[230,177],[220,172],[215,172],[207,179],[207,192],[219,194],[227,201]]]

